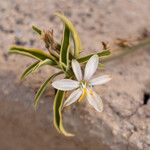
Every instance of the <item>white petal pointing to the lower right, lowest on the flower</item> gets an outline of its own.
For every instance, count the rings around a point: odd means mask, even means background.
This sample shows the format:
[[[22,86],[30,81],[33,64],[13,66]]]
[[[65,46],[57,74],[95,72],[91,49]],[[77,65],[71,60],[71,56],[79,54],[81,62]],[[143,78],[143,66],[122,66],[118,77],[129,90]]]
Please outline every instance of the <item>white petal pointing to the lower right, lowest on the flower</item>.
[[[87,90],[87,100],[98,112],[103,111],[102,99],[94,91]]]

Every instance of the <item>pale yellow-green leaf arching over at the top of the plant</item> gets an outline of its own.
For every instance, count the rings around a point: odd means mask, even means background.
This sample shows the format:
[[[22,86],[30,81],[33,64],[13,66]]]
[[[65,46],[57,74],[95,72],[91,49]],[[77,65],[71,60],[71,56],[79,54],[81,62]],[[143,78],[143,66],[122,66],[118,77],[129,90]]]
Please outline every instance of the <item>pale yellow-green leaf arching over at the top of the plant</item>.
[[[81,42],[80,42],[80,38],[78,36],[78,33],[77,33],[74,25],[63,14],[55,13],[55,15],[58,16],[68,26],[68,28],[71,32],[72,38],[73,38],[73,42],[74,42],[74,56],[75,56],[75,58],[78,58],[80,55],[80,51],[81,51]]]

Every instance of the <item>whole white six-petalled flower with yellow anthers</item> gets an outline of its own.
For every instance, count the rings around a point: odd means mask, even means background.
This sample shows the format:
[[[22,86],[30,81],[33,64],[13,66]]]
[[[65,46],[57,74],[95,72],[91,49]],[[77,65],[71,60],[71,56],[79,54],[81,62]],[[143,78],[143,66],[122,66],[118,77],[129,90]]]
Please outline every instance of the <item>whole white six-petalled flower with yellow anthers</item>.
[[[93,91],[95,85],[101,85],[111,80],[110,76],[103,75],[97,78],[91,79],[96,72],[99,64],[98,55],[93,55],[87,62],[84,71],[84,77],[82,75],[80,64],[76,60],[72,60],[72,69],[77,81],[71,79],[62,79],[54,81],[52,86],[58,90],[70,91],[75,90],[70,94],[67,100],[64,102],[64,107],[71,105],[77,100],[80,101],[86,96],[90,105],[92,105],[97,111],[103,110],[103,103],[98,94]]]

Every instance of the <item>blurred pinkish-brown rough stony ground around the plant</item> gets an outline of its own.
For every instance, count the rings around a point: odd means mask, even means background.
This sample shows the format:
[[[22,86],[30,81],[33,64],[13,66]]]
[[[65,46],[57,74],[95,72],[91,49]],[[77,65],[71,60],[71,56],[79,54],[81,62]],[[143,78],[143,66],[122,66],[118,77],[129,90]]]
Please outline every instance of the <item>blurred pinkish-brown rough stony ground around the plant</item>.
[[[143,105],[143,100],[150,93],[150,47],[109,62],[98,72],[113,76],[110,83],[96,88],[104,100],[103,113],[86,103],[64,112],[64,124],[76,133],[75,138],[66,139],[54,130],[50,90],[38,112],[33,111],[35,91],[56,70],[45,67],[20,82],[21,71],[32,60],[8,57],[7,50],[12,43],[44,47],[31,31],[32,24],[53,28],[59,39],[62,26],[52,15],[55,11],[63,11],[74,22],[85,53],[99,50],[101,41],[114,48],[117,38],[138,39],[150,33],[149,0],[0,1],[0,149],[149,150],[150,101]]]

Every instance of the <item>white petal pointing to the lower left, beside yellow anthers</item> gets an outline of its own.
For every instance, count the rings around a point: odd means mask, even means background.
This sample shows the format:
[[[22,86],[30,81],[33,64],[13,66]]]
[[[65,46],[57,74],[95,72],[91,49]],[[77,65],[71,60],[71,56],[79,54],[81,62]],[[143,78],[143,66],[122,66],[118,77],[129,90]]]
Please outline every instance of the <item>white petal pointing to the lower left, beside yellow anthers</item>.
[[[69,106],[75,101],[77,101],[80,98],[81,94],[82,94],[81,89],[77,89],[74,92],[72,92],[70,96],[67,98],[67,100],[64,102],[63,107]]]

